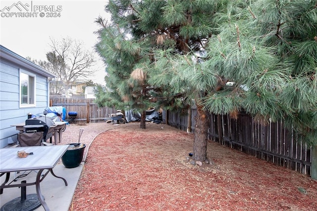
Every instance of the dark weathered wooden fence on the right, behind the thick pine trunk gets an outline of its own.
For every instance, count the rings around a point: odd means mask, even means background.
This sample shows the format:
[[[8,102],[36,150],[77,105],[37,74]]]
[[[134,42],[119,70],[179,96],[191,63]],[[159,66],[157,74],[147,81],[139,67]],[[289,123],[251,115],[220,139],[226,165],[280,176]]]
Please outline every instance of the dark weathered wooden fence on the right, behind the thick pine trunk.
[[[164,111],[163,121],[181,130],[194,132],[196,113],[195,107],[185,115]],[[243,113],[237,119],[211,114],[209,139],[303,174],[312,175],[317,171],[315,166],[312,168],[316,152],[298,141],[296,134],[285,129],[281,122],[264,126]]]

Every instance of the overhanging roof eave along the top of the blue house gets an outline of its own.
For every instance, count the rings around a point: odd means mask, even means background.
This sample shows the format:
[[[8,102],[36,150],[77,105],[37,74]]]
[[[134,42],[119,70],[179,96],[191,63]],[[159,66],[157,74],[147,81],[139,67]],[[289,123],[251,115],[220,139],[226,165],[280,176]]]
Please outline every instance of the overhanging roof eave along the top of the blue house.
[[[23,66],[25,68],[28,68],[32,70],[33,72],[46,76],[46,77],[52,77],[55,78],[56,76],[53,73],[50,73],[43,67],[33,63],[32,61],[10,51],[9,49],[3,47],[0,45],[0,57],[1,59],[6,59],[12,63],[18,64],[19,66]]]

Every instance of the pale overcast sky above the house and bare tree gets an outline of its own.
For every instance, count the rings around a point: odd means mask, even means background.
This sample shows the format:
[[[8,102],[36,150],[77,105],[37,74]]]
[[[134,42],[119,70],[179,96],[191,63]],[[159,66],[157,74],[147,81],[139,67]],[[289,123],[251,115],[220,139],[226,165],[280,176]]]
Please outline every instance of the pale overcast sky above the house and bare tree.
[[[0,44],[23,57],[46,60],[45,54],[51,50],[50,37],[70,37],[94,52],[98,41],[94,32],[99,29],[94,21],[100,15],[108,17],[106,3],[107,0],[1,0]],[[16,17],[19,15],[33,16]],[[47,17],[51,15],[60,17]],[[105,84],[104,63],[97,53],[95,57],[98,63],[92,69],[98,73],[90,79]]]

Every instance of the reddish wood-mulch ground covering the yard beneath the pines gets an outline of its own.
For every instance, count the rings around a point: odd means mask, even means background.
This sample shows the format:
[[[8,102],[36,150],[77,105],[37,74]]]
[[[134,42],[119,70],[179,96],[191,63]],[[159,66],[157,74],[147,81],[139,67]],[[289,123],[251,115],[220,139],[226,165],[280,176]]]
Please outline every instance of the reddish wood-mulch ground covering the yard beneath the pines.
[[[91,144],[70,211],[313,211],[317,181],[209,141],[192,165],[193,134],[129,123]]]

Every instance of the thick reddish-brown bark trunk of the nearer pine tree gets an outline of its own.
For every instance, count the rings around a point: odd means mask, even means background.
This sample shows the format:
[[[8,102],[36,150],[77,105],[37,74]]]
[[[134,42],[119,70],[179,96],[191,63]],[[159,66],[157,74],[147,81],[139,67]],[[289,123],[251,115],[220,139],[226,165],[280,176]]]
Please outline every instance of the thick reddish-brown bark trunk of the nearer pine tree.
[[[208,115],[198,105],[195,120],[193,159],[204,162],[207,159]]]

